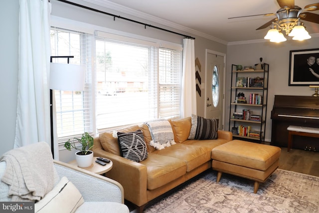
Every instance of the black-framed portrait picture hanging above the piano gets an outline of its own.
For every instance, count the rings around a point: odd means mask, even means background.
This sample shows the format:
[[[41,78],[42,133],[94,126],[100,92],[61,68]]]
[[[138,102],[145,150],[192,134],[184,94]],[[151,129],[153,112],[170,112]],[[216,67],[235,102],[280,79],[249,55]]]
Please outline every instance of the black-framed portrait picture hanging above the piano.
[[[290,50],[289,86],[319,85],[319,49]]]

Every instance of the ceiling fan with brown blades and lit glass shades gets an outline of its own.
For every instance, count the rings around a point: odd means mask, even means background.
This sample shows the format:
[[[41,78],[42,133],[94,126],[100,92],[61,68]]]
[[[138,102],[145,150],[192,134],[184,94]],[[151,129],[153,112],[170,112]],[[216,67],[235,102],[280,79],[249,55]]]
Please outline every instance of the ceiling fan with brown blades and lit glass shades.
[[[277,2],[281,8],[276,13],[257,14],[265,16],[276,15],[276,17],[268,21],[267,23],[263,24],[262,26],[258,27],[256,30],[264,29],[270,26],[270,30],[265,36],[265,39],[270,39],[270,41],[275,42],[287,40],[281,33],[281,31],[285,31],[285,33],[289,36],[294,36],[294,40],[304,40],[311,38],[311,36],[304,27],[304,23],[301,20],[306,20],[319,24],[319,14],[309,12],[319,10],[319,2],[308,4],[304,7],[304,9],[302,9],[300,6],[295,5],[295,0],[277,0]],[[230,18],[249,17],[257,15],[246,15]],[[270,32],[274,34],[269,35]]]

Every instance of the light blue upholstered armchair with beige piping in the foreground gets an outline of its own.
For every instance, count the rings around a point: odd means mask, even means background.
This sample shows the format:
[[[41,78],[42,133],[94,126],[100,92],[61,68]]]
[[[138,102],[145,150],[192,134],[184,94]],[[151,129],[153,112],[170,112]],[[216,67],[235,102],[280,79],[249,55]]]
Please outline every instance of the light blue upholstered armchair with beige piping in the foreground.
[[[129,213],[128,207],[124,205],[123,187],[118,182],[60,161],[53,160],[53,164],[59,179],[67,177],[83,197],[84,203],[75,213]],[[0,162],[0,179],[5,167],[6,162]],[[0,181],[0,201],[11,201],[7,196],[8,191],[9,186]]]

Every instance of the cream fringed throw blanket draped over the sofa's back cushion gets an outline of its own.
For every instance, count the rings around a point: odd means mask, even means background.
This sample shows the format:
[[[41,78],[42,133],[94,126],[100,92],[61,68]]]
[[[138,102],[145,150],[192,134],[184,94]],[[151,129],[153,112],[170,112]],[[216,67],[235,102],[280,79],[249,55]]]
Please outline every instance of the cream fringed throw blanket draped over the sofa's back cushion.
[[[148,125],[152,136],[150,145],[155,149],[160,150],[176,144],[174,141],[173,130],[167,120],[146,122],[145,124]]]

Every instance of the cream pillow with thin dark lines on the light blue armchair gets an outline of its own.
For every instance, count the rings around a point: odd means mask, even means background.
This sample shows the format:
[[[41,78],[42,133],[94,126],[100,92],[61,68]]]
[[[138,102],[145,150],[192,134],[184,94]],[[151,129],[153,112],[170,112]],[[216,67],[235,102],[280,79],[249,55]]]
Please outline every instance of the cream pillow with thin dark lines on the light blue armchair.
[[[74,213],[84,203],[78,189],[66,178],[34,204],[35,213]]]

